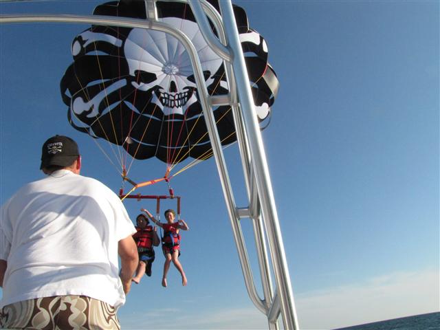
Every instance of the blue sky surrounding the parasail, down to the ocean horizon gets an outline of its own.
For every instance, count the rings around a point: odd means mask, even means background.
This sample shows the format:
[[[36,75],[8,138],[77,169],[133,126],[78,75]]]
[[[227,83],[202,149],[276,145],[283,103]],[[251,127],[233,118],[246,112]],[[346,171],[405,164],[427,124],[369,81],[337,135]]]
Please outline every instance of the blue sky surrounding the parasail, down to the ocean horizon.
[[[2,14],[90,14],[104,1],[1,3]],[[236,1],[280,80],[263,141],[301,329],[439,311],[439,1]],[[25,10],[24,8],[28,8]],[[118,191],[96,144],[67,123],[59,81],[87,25],[0,26],[0,202],[42,177],[40,148],[74,137],[83,175]],[[225,151],[245,206],[236,146]],[[133,174],[164,174],[157,160]],[[245,290],[213,159],[173,179],[183,197],[181,263],[133,287],[123,329],[265,329]],[[166,186],[144,188],[164,194]],[[126,201],[135,218],[154,203]],[[175,207],[174,202],[164,207]],[[250,223],[243,221],[250,256]],[[255,262],[254,274],[258,278]]]

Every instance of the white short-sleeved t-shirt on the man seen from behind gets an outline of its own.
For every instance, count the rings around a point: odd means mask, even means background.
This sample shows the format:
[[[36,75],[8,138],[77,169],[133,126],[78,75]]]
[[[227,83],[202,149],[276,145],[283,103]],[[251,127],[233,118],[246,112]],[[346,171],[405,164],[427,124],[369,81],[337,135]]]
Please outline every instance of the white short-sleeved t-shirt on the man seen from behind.
[[[0,213],[0,259],[8,262],[0,306],[65,295],[123,305],[118,241],[135,231],[118,196],[96,179],[57,170],[23,186]]]

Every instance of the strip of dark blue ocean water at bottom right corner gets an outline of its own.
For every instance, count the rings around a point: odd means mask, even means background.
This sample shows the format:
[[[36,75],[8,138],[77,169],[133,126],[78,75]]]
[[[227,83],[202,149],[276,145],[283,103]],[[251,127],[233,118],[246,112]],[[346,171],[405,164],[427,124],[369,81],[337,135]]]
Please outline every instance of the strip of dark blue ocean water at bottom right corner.
[[[440,330],[440,312],[395,318],[335,330]]]

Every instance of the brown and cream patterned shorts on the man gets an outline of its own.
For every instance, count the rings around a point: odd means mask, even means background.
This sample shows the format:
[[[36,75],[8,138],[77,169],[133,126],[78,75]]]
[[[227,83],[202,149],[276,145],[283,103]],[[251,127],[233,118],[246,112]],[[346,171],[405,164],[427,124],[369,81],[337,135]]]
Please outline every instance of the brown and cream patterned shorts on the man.
[[[36,298],[6,305],[0,311],[1,329],[118,329],[116,309],[87,296]]]

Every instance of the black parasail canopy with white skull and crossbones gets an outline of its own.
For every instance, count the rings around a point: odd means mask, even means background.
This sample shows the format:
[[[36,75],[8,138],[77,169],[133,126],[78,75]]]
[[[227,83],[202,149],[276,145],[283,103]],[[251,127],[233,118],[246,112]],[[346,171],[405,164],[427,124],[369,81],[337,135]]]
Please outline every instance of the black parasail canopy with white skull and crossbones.
[[[209,1],[218,10],[217,0]],[[189,5],[158,1],[159,20],[183,31],[195,45],[210,95],[228,93],[223,61],[210,50]],[[104,3],[94,14],[145,19],[144,1]],[[241,45],[260,122],[268,120],[278,79],[267,63],[263,37],[234,6]],[[133,158],[175,164],[209,157],[211,145],[188,53],[170,34],[92,25],[72,43],[74,62],[61,80],[74,128],[122,146]],[[215,107],[221,143],[236,140],[230,107]]]

